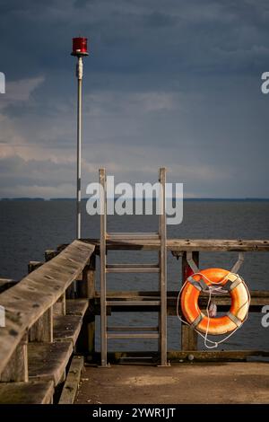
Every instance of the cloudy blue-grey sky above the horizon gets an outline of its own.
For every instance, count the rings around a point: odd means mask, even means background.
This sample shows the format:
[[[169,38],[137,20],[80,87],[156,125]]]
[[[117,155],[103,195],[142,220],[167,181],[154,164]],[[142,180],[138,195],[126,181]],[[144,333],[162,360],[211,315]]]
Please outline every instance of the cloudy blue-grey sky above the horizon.
[[[0,0],[0,198],[82,196],[116,181],[184,183],[185,198],[269,198],[267,0]]]

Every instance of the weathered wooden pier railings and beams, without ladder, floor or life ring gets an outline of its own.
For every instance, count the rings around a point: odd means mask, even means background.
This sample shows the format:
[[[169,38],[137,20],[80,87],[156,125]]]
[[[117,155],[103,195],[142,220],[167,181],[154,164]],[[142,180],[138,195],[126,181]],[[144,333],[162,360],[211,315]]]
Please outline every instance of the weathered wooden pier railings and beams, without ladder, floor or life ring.
[[[108,240],[106,248],[107,251],[157,251],[160,244],[161,241],[146,239]],[[187,252],[192,252],[193,258],[198,262],[200,251],[269,251],[269,241],[169,239],[166,249],[181,257],[184,280],[188,265]],[[55,251],[46,251],[45,262],[30,262],[29,275],[21,281],[0,280],[0,305],[5,309],[5,327],[0,329],[0,403],[72,403],[75,400],[83,359],[91,365],[100,365],[100,353],[95,350],[95,316],[100,314],[100,291],[96,291],[95,286],[95,261],[98,255],[99,240],[74,241],[68,245],[60,245]],[[250,293],[250,312],[260,312],[262,306],[269,304],[269,291]],[[177,295],[178,292],[167,292],[169,315],[176,315]],[[108,314],[122,311],[158,312],[160,309],[158,292],[108,291],[107,297]],[[149,307],[146,305],[147,301],[156,301],[156,304]],[[202,295],[201,306],[205,301],[206,298]],[[227,310],[230,297],[216,297],[215,302],[221,310]],[[215,362],[220,365],[221,362],[239,361],[244,365],[246,377],[247,365],[253,365],[247,363],[249,356],[269,356],[269,350],[198,350],[196,333],[186,325],[181,328],[181,347],[179,346],[178,344],[178,350],[167,352],[172,368],[178,362],[204,362],[206,365]],[[145,359],[147,364],[153,366],[160,363],[158,351],[108,351],[110,364],[134,362],[135,358],[137,362]],[[265,377],[266,365],[268,364],[256,365],[256,379],[263,379],[259,375]],[[187,367],[189,366],[184,366],[183,371],[185,380]],[[119,365],[118,368],[117,374],[120,376],[122,366]],[[227,369],[223,368],[223,375],[227,374]],[[109,368],[105,371],[109,371]],[[143,372],[146,371],[146,367],[143,368]],[[166,369],[163,368],[162,371]],[[193,373],[194,369],[191,371]],[[103,376],[98,368],[94,368],[94,374]],[[180,369],[177,374],[180,378]],[[91,380],[86,385],[86,391],[91,391]],[[266,397],[263,394],[262,402],[269,402],[269,393]],[[82,401],[83,397],[80,402]]]

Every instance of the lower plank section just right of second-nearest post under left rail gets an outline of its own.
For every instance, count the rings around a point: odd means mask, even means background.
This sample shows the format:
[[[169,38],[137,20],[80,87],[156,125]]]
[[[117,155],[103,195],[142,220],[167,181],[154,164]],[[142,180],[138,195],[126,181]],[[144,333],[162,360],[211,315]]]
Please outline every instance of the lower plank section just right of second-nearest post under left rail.
[[[57,315],[53,321],[53,332],[55,341],[72,341],[73,346],[82,328],[82,316],[79,315]]]

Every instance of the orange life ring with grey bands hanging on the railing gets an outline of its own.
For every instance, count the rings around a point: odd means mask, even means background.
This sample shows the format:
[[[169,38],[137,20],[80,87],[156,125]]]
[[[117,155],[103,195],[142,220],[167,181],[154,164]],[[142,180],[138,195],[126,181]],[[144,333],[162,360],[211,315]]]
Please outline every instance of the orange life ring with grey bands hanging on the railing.
[[[199,308],[200,292],[211,285],[223,286],[230,293],[230,311],[224,316],[208,318]],[[249,294],[247,286],[237,274],[222,268],[207,268],[187,278],[180,303],[183,315],[191,328],[220,335],[237,329],[246,320]]]

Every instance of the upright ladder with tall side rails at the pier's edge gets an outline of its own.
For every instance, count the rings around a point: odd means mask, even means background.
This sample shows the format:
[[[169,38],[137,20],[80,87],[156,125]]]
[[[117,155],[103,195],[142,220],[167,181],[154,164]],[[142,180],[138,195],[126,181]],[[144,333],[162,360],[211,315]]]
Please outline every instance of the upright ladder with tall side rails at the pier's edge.
[[[166,169],[159,172],[160,215],[158,233],[107,233],[107,177],[100,169],[100,347],[101,366],[108,366],[108,338],[158,338],[161,366],[167,363],[167,230],[165,212]],[[156,264],[107,264],[107,241],[158,240],[159,263]],[[160,297],[146,301],[113,301],[107,297],[106,277],[108,273],[158,273]],[[156,306],[159,308],[158,327],[108,327],[107,307],[113,305]]]

